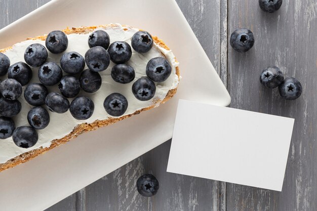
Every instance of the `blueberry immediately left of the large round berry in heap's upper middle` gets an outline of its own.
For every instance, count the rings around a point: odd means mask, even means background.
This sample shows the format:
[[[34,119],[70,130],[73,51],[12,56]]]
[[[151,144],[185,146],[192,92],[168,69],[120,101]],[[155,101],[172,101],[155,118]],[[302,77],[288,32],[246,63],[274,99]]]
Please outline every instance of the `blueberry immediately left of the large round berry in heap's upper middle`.
[[[77,52],[64,53],[60,59],[61,68],[68,74],[77,74],[85,68],[85,59]]]

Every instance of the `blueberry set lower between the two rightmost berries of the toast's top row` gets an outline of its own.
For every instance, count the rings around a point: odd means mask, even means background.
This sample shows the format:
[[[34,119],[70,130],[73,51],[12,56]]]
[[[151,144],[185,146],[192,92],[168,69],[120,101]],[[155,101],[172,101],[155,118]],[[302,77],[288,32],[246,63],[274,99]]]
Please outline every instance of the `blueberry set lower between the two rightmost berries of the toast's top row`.
[[[132,56],[132,50],[128,43],[125,41],[115,41],[109,46],[108,52],[111,61],[116,64],[123,64]]]

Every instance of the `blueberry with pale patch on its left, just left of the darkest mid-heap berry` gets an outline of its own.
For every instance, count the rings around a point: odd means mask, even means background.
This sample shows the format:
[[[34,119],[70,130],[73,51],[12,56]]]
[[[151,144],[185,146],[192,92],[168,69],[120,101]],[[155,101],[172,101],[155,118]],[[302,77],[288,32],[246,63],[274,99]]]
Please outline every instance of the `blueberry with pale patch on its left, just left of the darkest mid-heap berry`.
[[[79,80],[72,75],[66,75],[58,85],[59,91],[66,98],[73,98],[81,91]]]

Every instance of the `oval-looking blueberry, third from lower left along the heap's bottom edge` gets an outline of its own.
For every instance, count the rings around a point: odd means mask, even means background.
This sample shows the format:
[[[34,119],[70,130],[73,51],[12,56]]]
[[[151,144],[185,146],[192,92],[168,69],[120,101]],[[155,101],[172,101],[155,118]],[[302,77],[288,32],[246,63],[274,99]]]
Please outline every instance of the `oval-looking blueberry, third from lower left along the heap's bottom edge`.
[[[50,111],[56,113],[65,113],[69,108],[69,101],[67,98],[56,92],[51,92],[46,96],[45,104]]]

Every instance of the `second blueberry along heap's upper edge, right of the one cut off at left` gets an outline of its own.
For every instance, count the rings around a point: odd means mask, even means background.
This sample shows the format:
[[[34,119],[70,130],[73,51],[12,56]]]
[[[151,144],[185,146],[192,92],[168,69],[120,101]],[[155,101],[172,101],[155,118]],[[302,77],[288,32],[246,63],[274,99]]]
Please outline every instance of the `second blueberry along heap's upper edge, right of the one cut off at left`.
[[[46,48],[38,43],[29,45],[24,52],[25,62],[32,67],[39,67],[46,61],[48,53]]]

